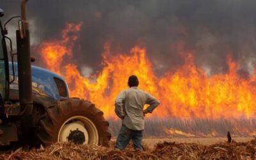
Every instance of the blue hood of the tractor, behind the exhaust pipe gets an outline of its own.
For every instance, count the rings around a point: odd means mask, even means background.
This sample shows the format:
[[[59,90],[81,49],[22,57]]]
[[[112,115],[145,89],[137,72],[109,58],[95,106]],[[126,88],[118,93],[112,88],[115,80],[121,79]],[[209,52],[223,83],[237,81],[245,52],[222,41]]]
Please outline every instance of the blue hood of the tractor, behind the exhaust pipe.
[[[19,99],[19,79],[17,63],[14,63],[15,76],[13,77],[12,63],[9,62],[10,68],[10,99]],[[60,100],[69,97],[68,86],[63,77],[58,76],[54,72],[45,70],[44,68],[31,66],[32,72],[32,90],[33,94]],[[18,93],[18,94],[17,94]]]

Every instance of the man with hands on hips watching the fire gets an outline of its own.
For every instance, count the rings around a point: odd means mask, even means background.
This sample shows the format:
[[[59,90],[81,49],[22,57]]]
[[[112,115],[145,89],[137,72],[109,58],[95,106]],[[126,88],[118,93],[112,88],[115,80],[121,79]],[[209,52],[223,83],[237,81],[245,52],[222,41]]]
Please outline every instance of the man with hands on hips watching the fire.
[[[138,78],[130,76],[127,90],[119,93],[115,100],[115,113],[122,119],[122,127],[118,134],[115,148],[123,150],[132,140],[135,150],[143,150],[141,140],[143,138],[144,117],[160,104],[159,100],[147,92],[139,90]],[[143,110],[145,104],[150,106]]]

